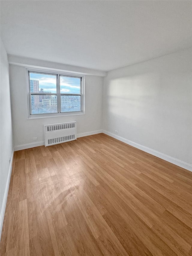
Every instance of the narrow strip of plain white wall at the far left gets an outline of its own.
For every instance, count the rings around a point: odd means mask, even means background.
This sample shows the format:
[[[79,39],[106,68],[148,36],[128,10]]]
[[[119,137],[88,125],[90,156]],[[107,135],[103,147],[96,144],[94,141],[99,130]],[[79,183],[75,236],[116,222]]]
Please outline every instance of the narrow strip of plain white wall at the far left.
[[[13,153],[12,122],[9,89],[9,64],[7,53],[1,41],[0,79],[0,236],[10,178],[9,157]]]

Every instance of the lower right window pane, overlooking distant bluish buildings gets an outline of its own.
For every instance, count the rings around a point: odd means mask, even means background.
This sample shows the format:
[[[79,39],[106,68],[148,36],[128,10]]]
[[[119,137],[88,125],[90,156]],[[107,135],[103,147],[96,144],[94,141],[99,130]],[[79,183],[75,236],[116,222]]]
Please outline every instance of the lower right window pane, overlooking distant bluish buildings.
[[[61,112],[81,111],[81,96],[61,95]]]

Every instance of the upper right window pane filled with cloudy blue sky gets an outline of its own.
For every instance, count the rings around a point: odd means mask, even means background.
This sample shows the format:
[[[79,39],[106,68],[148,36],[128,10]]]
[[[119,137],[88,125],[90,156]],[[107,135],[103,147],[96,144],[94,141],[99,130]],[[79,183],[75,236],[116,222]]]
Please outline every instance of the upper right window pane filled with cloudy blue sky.
[[[80,94],[80,78],[60,76],[61,93]]]

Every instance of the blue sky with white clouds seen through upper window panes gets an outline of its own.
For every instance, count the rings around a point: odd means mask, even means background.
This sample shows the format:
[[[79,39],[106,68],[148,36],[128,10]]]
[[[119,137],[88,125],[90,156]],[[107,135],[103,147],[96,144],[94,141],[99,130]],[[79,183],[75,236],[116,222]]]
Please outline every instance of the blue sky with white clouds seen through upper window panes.
[[[39,81],[39,90],[56,93],[56,76],[30,73],[30,80]],[[80,79],[60,76],[61,93],[80,93]]]

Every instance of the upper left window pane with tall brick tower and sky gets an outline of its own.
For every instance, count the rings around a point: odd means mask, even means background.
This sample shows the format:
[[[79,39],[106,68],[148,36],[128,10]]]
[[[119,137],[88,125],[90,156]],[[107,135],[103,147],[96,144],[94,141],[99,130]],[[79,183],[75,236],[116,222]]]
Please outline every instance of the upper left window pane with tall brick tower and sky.
[[[56,75],[46,75],[29,73],[30,77],[30,92],[57,92],[57,77]]]

